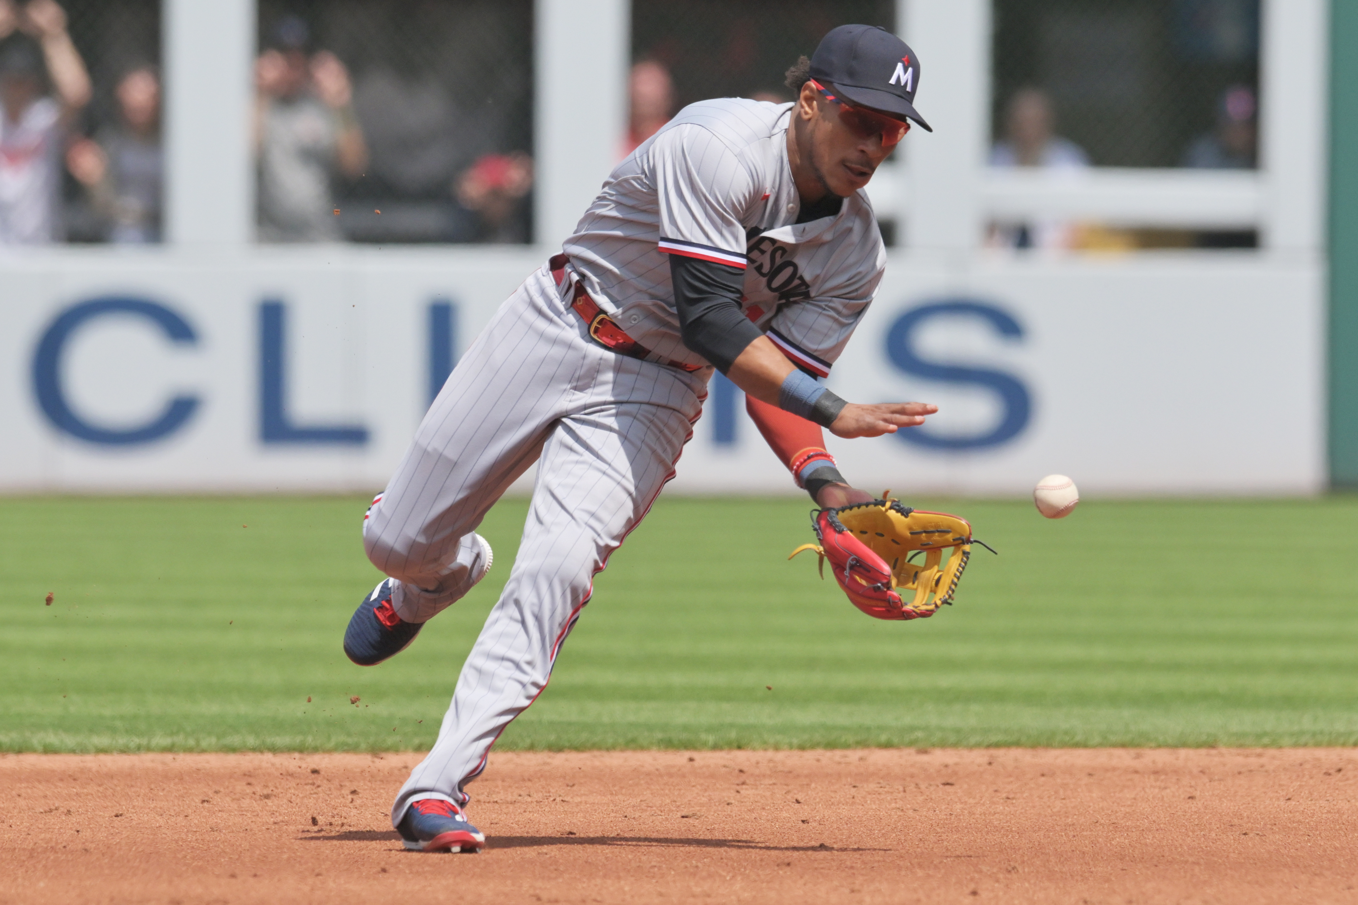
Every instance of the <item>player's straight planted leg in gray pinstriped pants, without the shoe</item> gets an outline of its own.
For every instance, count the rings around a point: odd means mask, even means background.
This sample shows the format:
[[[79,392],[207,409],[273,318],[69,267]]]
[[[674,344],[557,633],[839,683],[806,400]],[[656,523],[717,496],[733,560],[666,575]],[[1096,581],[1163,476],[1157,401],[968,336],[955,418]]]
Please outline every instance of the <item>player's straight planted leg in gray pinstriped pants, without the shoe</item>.
[[[547,438],[519,556],[462,668],[437,742],[397,796],[397,825],[421,799],[467,802],[464,787],[496,738],[546,687],[593,575],[674,476],[703,380],[629,358],[617,364],[608,392],[644,402],[581,399]]]

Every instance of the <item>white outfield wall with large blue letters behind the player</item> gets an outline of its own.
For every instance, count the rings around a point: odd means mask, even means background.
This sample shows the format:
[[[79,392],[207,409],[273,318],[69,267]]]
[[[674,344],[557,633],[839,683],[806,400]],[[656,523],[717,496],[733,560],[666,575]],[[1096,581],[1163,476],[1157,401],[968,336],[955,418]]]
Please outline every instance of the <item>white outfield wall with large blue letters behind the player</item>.
[[[830,385],[937,402],[838,441],[856,483],[1019,495],[1324,486],[1317,263],[902,252]],[[0,491],[376,490],[528,250],[52,250],[0,278]],[[671,493],[799,493],[729,384]]]

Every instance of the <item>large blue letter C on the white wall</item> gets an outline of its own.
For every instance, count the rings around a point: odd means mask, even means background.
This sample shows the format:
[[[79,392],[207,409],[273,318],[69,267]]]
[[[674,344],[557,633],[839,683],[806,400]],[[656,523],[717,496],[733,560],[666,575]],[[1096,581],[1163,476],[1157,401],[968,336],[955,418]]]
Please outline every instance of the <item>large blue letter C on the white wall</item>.
[[[193,327],[183,317],[153,301],[110,296],[72,305],[52,322],[33,354],[33,389],[38,396],[38,407],[42,414],[57,430],[103,446],[148,444],[179,430],[198,407],[200,400],[196,396],[175,396],[166,403],[159,418],[125,430],[91,425],[71,408],[61,384],[62,353],[71,335],[81,324],[105,315],[144,317],[159,327],[166,338],[181,346],[191,346],[198,342]]]

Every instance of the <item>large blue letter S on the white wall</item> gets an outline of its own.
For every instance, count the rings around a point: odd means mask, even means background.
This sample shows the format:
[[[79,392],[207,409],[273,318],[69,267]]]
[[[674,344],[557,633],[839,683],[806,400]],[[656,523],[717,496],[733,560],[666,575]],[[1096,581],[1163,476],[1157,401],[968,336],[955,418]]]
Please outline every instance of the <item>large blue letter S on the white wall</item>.
[[[1032,399],[1027,387],[1017,377],[1002,370],[929,361],[915,351],[915,330],[933,317],[944,316],[975,317],[985,322],[1001,336],[1008,339],[1023,336],[1023,327],[1008,312],[983,301],[949,299],[921,305],[900,315],[887,331],[887,358],[896,368],[914,377],[985,387],[999,398],[1005,414],[998,425],[983,434],[945,437],[932,433],[928,427],[910,427],[896,431],[895,436],[907,444],[929,449],[985,449],[1013,440],[1028,426],[1028,419],[1032,415]]]

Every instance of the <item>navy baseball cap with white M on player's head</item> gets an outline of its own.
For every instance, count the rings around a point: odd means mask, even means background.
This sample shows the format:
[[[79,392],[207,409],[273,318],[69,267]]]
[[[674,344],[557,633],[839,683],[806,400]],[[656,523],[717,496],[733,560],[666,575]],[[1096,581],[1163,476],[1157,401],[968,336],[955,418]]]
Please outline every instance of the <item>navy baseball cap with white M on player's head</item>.
[[[915,110],[919,58],[904,41],[877,26],[839,26],[820,39],[811,57],[811,77],[834,85],[839,96],[896,119],[933,128]]]

